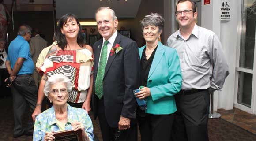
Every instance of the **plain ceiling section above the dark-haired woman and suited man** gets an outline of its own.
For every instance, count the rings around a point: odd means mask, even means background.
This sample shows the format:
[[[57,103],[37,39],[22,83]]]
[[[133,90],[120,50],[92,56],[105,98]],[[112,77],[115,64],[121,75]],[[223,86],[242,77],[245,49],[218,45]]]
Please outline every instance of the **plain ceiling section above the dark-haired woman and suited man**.
[[[56,16],[72,13],[80,18],[94,18],[98,7],[112,8],[118,18],[136,17],[141,0],[56,0]]]

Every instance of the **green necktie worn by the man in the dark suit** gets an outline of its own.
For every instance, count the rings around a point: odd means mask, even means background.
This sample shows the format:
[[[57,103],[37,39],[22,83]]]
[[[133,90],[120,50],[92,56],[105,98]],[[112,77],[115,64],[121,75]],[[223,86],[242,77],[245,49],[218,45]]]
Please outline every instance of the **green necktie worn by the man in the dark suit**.
[[[103,77],[105,74],[105,68],[107,63],[108,43],[109,41],[107,40],[104,42],[95,82],[95,94],[96,96],[98,96],[99,99],[101,99],[103,96]]]

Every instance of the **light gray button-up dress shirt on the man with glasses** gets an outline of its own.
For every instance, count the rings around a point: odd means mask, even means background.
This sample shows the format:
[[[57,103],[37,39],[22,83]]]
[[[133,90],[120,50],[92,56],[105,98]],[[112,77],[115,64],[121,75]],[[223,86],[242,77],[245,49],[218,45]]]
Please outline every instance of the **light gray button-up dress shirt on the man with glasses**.
[[[215,33],[195,24],[187,40],[178,30],[168,38],[167,46],[176,49],[180,58],[181,89],[222,89],[229,71]]]

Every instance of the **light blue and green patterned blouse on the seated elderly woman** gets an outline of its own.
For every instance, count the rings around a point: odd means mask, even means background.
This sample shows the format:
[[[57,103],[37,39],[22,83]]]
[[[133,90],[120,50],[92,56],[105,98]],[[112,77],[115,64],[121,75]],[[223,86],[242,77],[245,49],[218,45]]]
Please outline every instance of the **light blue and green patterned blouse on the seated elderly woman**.
[[[90,141],[93,141],[93,126],[87,111],[68,105],[68,123],[65,125],[65,130],[71,130],[72,122],[82,122]],[[55,111],[52,106],[52,108],[45,110],[36,117],[33,141],[43,141],[45,132],[58,132],[59,130],[59,126],[56,124]]]

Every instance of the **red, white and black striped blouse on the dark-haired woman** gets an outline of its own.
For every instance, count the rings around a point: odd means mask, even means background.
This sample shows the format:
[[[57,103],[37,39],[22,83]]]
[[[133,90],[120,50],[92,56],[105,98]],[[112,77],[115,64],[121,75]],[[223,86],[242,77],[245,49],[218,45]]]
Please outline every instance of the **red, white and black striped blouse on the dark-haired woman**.
[[[58,50],[51,53],[40,67],[47,78],[53,74],[64,74],[72,83],[68,101],[84,102],[90,87],[93,72],[93,54],[86,48],[79,50]]]

